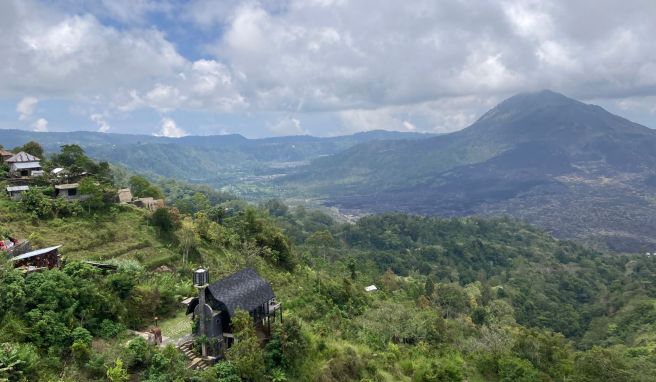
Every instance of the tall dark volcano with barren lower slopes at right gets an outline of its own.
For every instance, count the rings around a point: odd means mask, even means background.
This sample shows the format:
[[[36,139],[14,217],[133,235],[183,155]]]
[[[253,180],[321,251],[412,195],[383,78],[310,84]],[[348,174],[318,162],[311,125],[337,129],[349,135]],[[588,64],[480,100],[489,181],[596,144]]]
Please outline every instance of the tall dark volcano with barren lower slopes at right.
[[[511,215],[559,237],[656,249],[656,132],[552,91],[519,94],[471,126],[376,141],[281,180],[356,212]]]

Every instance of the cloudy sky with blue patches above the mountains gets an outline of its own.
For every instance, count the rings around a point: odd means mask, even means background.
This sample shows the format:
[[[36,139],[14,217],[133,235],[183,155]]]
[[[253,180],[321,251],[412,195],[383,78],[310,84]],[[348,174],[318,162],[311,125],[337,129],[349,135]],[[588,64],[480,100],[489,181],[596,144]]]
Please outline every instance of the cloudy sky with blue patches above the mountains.
[[[551,89],[656,128],[654,0],[0,0],[0,128],[452,132]]]

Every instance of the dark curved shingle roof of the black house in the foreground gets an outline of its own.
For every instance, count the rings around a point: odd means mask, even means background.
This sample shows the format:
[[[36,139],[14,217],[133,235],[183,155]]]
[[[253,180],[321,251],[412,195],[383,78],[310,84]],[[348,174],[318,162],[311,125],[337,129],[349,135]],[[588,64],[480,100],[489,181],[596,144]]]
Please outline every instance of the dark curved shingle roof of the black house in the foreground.
[[[235,314],[237,308],[250,312],[276,297],[271,285],[253,268],[233,273],[207,289],[212,297],[226,306],[230,316]]]

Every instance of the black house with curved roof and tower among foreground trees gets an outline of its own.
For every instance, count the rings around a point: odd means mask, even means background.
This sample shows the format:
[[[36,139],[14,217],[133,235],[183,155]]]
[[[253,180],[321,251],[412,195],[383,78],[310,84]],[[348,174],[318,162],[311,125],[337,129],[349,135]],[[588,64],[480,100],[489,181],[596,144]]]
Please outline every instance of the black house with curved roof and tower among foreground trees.
[[[207,271],[200,269],[196,274],[199,272],[204,272],[207,280]],[[193,335],[204,335],[209,339],[209,348],[203,349],[203,356],[221,356],[232,345],[234,337],[230,319],[237,309],[251,315],[256,330],[264,337],[270,335],[271,320],[275,319],[277,311],[280,311],[282,320],[282,308],[276,303],[271,285],[254,269],[242,269],[209,285],[198,283],[196,274],[194,284],[199,296],[185,302],[187,314],[192,314],[194,321]]]

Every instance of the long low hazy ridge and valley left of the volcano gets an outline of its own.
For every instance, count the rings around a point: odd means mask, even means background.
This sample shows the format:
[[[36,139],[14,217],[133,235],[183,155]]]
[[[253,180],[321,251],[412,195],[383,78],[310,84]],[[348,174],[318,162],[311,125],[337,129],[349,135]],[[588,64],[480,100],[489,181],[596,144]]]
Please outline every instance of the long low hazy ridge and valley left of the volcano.
[[[243,197],[271,197],[269,179],[310,160],[377,140],[423,139],[429,134],[369,131],[319,138],[290,136],[248,139],[238,134],[167,138],[96,132],[0,130],[0,144],[12,148],[30,140],[55,152],[63,144],[78,144],[95,159],[131,170],[227,188]]]

